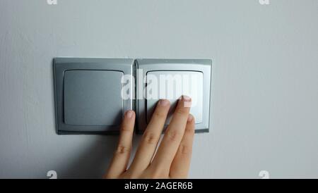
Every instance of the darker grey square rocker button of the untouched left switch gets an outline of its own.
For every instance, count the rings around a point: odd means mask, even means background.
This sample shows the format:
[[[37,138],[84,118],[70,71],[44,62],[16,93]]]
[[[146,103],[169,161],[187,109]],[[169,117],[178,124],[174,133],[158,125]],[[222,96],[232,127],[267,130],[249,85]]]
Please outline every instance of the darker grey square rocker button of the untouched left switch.
[[[120,95],[123,75],[114,70],[66,70],[65,124],[120,125],[124,110]]]

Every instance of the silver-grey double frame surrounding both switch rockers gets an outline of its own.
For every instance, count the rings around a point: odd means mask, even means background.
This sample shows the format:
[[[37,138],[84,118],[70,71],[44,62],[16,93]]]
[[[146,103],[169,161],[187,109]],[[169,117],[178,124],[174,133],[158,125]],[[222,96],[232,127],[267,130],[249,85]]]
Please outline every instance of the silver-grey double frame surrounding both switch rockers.
[[[64,72],[66,70],[114,70],[131,75],[130,98],[124,100],[124,112],[136,111],[136,133],[141,134],[147,126],[146,99],[139,97],[146,87],[140,82],[151,71],[194,71],[203,73],[203,113],[202,123],[195,125],[195,132],[209,132],[211,126],[211,82],[212,61],[210,59],[132,59],[132,58],[54,58],[54,97],[56,131],[58,135],[106,134],[116,135],[119,126],[107,125],[67,125],[64,123]],[[143,70],[142,74],[136,70]],[[139,78],[139,76],[142,76]],[[107,81],[107,80],[106,80]],[[141,86],[141,87],[139,87]],[[136,94],[136,98],[135,98]],[[112,127],[112,128],[110,128]],[[167,127],[167,126],[165,126]]]

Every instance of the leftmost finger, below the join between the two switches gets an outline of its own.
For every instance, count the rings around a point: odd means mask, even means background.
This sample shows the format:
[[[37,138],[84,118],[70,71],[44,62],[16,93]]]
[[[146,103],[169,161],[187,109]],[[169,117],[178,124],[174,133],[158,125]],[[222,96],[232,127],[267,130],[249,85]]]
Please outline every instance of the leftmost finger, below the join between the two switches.
[[[119,142],[105,178],[117,178],[127,168],[134,135],[135,113],[126,111],[120,128]]]

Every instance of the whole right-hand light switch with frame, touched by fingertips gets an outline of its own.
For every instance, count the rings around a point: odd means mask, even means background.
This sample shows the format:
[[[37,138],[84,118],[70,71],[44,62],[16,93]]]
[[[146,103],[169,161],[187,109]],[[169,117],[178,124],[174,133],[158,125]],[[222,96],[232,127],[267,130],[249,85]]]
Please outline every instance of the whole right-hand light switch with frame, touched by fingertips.
[[[206,59],[137,59],[136,118],[137,132],[142,133],[159,99],[169,99],[172,106],[165,123],[169,125],[177,99],[192,97],[190,113],[196,132],[209,131],[212,61]],[[146,77],[146,80],[141,77]]]

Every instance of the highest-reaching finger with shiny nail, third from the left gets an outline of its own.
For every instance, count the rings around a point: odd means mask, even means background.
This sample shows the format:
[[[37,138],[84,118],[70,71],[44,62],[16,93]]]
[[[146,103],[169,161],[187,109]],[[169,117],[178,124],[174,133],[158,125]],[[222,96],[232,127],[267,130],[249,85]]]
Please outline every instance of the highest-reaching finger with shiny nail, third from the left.
[[[155,168],[155,170],[169,174],[172,160],[175,158],[175,154],[184,135],[190,104],[191,99],[189,97],[182,96],[182,99],[178,101],[172,120],[165,131],[163,141],[151,163],[151,169]]]

